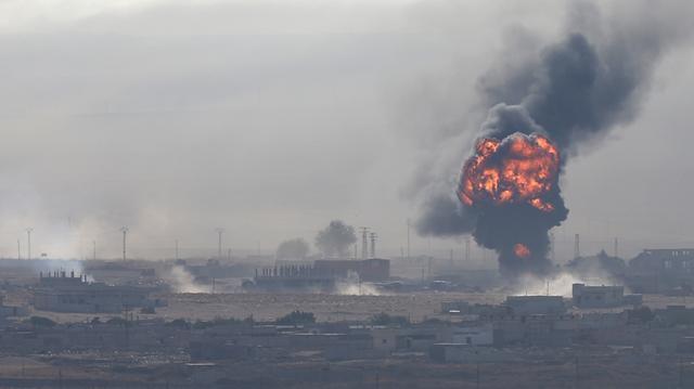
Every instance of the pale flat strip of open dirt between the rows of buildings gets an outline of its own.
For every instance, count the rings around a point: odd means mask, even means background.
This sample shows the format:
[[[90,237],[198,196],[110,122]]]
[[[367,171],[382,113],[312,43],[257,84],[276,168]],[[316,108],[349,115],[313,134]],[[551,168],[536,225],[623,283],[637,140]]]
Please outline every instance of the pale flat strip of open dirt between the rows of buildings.
[[[155,314],[134,312],[140,319],[163,317],[165,320],[185,319],[189,321],[215,317],[245,319],[250,315],[257,321],[272,321],[294,310],[313,312],[318,321],[359,321],[385,312],[410,317],[414,322],[425,319],[447,319],[441,314],[441,302],[464,300],[470,303],[499,303],[505,299],[502,293],[451,293],[417,291],[381,296],[350,296],[323,294],[170,294],[158,296],[168,301],[168,307],[157,308]],[[694,297],[668,297],[646,295],[644,304],[652,309],[669,304],[694,307]],[[616,311],[624,308],[592,311]],[[121,314],[80,314],[35,311],[33,314],[51,317],[54,321],[82,322],[93,316],[107,319]]]

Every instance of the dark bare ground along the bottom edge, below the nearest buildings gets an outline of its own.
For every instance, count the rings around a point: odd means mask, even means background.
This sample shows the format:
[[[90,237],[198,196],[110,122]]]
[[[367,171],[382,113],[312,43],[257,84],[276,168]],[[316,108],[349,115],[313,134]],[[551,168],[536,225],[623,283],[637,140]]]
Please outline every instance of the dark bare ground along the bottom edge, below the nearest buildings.
[[[125,355],[124,355],[125,356]],[[47,358],[39,358],[47,359]],[[424,358],[382,361],[220,361],[209,364],[100,364],[53,356],[0,359],[2,388],[691,388],[694,366],[668,356],[626,361],[583,355],[522,363],[434,364]],[[120,358],[123,359],[123,356]],[[578,361],[578,365],[576,363]],[[79,363],[79,364],[77,364]],[[24,366],[24,367],[23,367]],[[22,374],[22,368],[26,374]],[[30,377],[30,378],[28,378]]]

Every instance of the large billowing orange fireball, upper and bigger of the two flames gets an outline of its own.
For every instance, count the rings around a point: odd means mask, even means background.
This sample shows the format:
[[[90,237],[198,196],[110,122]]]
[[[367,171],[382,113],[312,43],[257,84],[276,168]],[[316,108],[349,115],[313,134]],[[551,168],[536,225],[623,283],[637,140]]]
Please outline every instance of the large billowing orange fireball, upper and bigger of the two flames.
[[[468,206],[478,202],[496,205],[526,203],[551,212],[554,205],[542,197],[556,182],[560,154],[547,138],[514,133],[506,138],[503,155],[497,139],[483,139],[476,154],[463,167],[458,196]]]

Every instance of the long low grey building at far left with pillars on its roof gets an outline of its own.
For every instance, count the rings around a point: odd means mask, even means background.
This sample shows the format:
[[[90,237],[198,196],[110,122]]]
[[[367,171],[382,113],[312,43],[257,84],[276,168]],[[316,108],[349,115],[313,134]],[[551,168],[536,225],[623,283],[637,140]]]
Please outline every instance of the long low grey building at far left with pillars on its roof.
[[[40,275],[34,290],[34,307],[53,312],[118,313],[124,309],[158,304],[149,299],[151,291],[146,287],[89,283],[74,272],[68,276],[61,271]]]

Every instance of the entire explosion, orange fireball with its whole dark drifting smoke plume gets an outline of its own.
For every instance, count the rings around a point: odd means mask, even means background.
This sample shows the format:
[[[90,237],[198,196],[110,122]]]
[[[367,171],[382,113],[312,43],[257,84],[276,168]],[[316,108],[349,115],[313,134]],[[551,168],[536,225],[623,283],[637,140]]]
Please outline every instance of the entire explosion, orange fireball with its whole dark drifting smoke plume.
[[[509,281],[552,269],[549,231],[568,215],[558,186],[567,158],[633,120],[663,54],[672,42],[690,41],[683,28],[689,21],[653,17],[660,9],[651,3],[629,2],[629,12],[608,16],[589,3],[574,3],[563,35],[538,47],[539,55],[525,41],[512,40],[478,78],[478,101],[489,109],[457,186],[448,185],[449,169],[455,169],[448,163],[461,157],[460,150],[446,153],[452,147],[433,147],[438,153],[433,160],[444,164],[446,173],[422,169],[413,186],[423,199],[420,234],[472,233],[478,245],[499,254]],[[679,8],[667,12],[676,15]],[[643,18],[633,23],[635,15]]]

